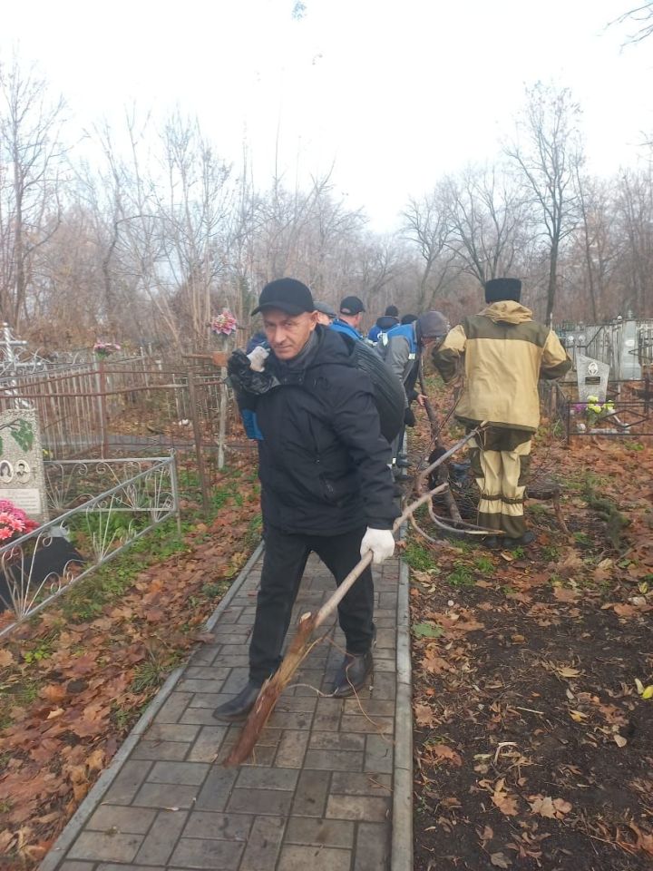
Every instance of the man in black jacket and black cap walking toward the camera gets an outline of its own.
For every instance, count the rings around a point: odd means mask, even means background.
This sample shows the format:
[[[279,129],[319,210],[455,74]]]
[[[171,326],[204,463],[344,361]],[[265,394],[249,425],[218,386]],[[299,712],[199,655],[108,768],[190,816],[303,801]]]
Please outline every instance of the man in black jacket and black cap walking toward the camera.
[[[270,347],[229,372],[241,401],[256,410],[261,509],[266,549],[249,645],[249,682],[214,712],[244,719],[277,669],[299,582],[311,552],[342,582],[362,555],[392,556],[397,515],[371,382],[356,368],[346,340],[317,326],[313,298],[296,279],[262,290],[258,308]],[[252,370],[255,370],[252,372]],[[256,371],[258,370],[258,371]],[[346,656],[333,694],[350,695],[372,671],[374,588],[369,567],[338,607]]]

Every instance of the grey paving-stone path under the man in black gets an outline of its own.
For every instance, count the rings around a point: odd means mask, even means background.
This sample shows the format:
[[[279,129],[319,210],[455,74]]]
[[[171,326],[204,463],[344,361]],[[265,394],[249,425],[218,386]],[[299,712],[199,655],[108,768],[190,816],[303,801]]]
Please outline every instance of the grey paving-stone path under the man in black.
[[[390,868],[399,563],[375,570],[373,689],[358,700],[317,694],[316,687],[328,691],[344,651],[340,630],[329,627],[330,641],[312,651],[284,692],[255,757],[223,768],[239,727],[220,726],[211,712],[247,680],[260,570],[259,560],[219,614],[215,643],[185,667],[110,788],[73,821],[74,839],[69,826],[64,847],[46,857],[48,871]],[[333,589],[312,556],[293,625]]]

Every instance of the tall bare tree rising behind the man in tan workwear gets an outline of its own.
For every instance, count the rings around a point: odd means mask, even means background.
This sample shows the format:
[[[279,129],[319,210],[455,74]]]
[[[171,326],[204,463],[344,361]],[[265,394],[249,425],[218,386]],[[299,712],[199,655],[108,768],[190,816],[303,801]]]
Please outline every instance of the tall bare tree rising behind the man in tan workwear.
[[[558,261],[564,240],[579,220],[575,181],[582,164],[580,115],[568,88],[542,83],[527,90],[515,139],[505,152],[521,171],[524,186],[539,211],[549,259],[546,323],[551,325],[558,287]]]

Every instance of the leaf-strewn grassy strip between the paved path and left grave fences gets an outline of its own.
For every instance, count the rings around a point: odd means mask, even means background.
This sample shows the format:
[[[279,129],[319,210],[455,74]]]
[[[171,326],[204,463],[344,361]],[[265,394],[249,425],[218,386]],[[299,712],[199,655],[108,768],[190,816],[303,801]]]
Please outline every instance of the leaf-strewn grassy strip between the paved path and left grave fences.
[[[251,466],[251,464],[249,464]],[[259,539],[256,471],[219,476],[0,644],[0,868],[43,858]]]

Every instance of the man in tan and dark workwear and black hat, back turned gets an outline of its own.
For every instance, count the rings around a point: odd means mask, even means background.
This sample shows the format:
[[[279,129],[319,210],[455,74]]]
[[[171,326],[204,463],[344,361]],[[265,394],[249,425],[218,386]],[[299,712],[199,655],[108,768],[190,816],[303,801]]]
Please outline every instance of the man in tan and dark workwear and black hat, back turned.
[[[470,442],[472,470],[481,490],[479,524],[502,532],[489,547],[530,544],[523,514],[531,436],[540,425],[539,378],[560,378],[571,360],[553,330],[536,323],[520,303],[519,279],[485,283],[478,315],[463,318],[434,350],[445,381],[462,361],[463,393],[455,416],[468,428],[490,426]]]

